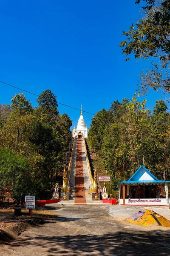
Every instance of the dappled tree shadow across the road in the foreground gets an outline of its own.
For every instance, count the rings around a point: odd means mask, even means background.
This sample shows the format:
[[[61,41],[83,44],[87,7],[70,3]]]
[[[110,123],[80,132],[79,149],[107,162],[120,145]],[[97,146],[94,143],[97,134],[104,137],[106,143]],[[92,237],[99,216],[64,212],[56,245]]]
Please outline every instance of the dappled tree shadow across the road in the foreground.
[[[45,248],[49,256],[62,255],[170,255],[169,235],[160,232],[116,232],[102,236],[25,236],[10,246]]]

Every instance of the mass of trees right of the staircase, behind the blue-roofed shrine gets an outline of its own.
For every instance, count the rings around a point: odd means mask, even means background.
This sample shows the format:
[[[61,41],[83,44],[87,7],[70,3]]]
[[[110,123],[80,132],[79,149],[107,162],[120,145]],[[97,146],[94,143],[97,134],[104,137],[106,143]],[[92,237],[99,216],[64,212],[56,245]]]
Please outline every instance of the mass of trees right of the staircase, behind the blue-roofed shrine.
[[[103,169],[113,177],[114,189],[144,165],[164,180],[170,174],[170,113],[163,100],[156,101],[153,113],[146,100],[123,99],[102,109],[92,119],[88,133],[92,151]]]

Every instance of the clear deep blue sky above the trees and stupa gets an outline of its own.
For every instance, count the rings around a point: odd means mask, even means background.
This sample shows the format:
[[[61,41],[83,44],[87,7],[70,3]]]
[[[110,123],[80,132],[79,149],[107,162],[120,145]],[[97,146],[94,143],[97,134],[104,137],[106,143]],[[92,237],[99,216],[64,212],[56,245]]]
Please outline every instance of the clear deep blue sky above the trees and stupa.
[[[125,62],[123,30],[139,19],[135,0],[0,1],[0,80],[36,94],[51,89],[57,101],[96,113],[131,98],[146,63]],[[148,64],[149,65],[149,64]],[[0,84],[0,103],[19,90]],[[25,93],[33,106],[36,96]],[[160,93],[149,93],[153,108]],[[77,124],[79,111],[59,105]],[[84,114],[88,127],[91,115]]]

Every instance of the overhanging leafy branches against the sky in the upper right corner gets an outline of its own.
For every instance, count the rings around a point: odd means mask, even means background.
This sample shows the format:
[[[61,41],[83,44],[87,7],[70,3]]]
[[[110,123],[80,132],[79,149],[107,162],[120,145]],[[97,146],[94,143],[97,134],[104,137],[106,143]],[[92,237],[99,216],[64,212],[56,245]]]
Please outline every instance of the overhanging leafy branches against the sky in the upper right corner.
[[[141,74],[141,92],[148,89],[162,90],[170,93],[170,1],[169,0],[136,0],[144,2],[142,17],[123,31],[126,40],[122,41],[122,53],[133,53],[135,58],[150,59],[151,65]]]

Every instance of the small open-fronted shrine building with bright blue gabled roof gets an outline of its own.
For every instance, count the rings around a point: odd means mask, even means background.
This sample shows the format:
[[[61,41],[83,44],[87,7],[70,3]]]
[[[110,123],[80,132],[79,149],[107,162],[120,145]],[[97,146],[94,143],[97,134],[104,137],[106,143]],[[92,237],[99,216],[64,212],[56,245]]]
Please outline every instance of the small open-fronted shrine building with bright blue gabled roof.
[[[129,180],[118,183],[119,204],[169,206],[167,183],[170,181],[158,180],[144,166],[140,166]],[[162,197],[163,186],[166,198]]]

